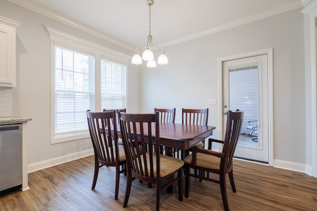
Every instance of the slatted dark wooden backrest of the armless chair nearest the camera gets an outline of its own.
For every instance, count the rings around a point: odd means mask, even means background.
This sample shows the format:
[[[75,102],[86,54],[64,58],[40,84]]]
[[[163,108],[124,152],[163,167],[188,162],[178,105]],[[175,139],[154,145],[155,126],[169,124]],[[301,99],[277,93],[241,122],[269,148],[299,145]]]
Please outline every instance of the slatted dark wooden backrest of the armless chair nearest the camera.
[[[154,165],[159,172],[159,112],[155,114],[120,112],[119,122],[128,168],[136,177],[139,175],[154,178]]]

